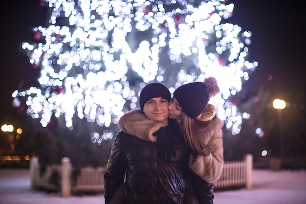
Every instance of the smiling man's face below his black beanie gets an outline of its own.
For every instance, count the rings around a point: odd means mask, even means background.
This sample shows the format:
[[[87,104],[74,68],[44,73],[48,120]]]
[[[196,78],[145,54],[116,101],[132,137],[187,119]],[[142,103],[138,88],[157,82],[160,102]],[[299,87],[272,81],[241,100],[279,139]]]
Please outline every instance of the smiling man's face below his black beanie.
[[[169,102],[165,98],[151,98],[145,103],[143,113],[148,119],[168,125],[168,105]]]

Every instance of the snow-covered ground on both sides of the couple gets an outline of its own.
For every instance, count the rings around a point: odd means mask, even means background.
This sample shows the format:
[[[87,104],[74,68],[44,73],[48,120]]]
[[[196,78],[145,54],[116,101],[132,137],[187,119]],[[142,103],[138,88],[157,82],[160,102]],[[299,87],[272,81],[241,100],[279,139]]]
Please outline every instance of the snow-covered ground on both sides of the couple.
[[[104,204],[103,194],[63,198],[30,189],[28,169],[0,168],[0,204]],[[215,192],[215,204],[306,204],[306,170],[253,170],[252,189]]]

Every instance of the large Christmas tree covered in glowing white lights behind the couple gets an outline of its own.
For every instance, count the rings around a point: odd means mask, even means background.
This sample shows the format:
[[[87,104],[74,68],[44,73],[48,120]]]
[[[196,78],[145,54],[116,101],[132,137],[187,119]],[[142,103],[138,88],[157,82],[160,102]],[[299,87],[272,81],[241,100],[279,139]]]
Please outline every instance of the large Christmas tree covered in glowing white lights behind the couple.
[[[13,104],[42,127],[73,130],[80,123],[101,144],[117,133],[118,119],[138,108],[150,82],[171,92],[184,83],[217,78],[210,103],[233,135],[248,113],[231,96],[257,67],[247,61],[250,31],[226,23],[226,0],[44,0],[48,23],[25,42],[40,69],[40,87],[16,90]],[[77,125],[76,125],[77,124]]]

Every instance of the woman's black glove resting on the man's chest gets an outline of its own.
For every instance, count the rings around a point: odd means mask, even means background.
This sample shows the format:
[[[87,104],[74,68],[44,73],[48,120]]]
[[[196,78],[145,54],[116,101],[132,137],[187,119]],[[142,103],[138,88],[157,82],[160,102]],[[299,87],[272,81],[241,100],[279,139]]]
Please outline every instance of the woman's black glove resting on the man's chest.
[[[169,127],[162,127],[155,133],[157,136],[157,157],[164,160],[167,157],[167,161],[171,161],[171,156],[176,158],[175,148],[172,144],[172,132]]]

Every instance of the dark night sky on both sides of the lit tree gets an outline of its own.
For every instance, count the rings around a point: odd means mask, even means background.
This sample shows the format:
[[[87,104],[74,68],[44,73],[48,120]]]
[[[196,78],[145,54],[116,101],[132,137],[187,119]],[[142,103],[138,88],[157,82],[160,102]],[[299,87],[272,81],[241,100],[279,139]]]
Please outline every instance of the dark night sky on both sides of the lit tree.
[[[233,2],[235,9],[226,22],[238,24],[242,31],[252,32],[248,60],[259,63],[242,89],[255,92],[262,86],[275,97],[305,106],[305,1],[228,2]],[[16,109],[12,107],[12,92],[38,86],[39,69],[30,66],[21,44],[32,41],[33,27],[45,25],[45,10],[39,3],[40,0],[10,0],[3,3],[0,12],[1,124],[16,115]],[[269,75],[273,76],[272,80],[268,80]]]

